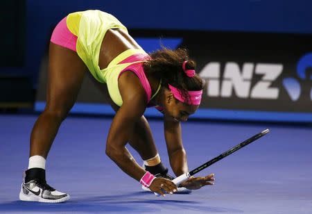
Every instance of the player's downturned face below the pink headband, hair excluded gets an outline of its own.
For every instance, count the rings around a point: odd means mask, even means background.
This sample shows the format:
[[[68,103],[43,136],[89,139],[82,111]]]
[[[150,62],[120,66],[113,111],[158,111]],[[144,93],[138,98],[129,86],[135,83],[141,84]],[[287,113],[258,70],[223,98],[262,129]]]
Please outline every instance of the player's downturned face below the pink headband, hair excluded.
[[[189,115],[192,115],[198,109],[198,106],[187,105],[178,101],[169,90],[165,92],[165,101],[162,107],[164,108],[164,115],[180,122],[187,121]]]

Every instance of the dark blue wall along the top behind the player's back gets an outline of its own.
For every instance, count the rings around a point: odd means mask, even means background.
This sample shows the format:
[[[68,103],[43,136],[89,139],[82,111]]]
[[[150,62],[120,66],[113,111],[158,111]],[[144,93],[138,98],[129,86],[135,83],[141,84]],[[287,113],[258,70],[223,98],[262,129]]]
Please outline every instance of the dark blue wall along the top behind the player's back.
[[[311,1],[103,1],[28,0],[26,3],[26,65],[9,70],[28,74],[37,88],[37,72],[51,28],[77,10],[105,10],[128,28],[207,31],[312,33]]]

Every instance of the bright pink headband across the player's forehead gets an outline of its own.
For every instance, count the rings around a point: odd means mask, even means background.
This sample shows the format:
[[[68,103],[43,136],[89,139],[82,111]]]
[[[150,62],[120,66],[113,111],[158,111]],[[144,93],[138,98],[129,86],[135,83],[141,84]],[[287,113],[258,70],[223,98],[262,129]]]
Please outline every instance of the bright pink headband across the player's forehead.
[[[187,103],[189,105],[199,105],[200,101],[202,100],[202,90],[197,91],[188,91],[189,99],[182,96],[182,93],[177,88],[173,87],[172,85],[168,84],[171,92],[173,93],[173,97],[175,99],[182,101],[182,103]]]

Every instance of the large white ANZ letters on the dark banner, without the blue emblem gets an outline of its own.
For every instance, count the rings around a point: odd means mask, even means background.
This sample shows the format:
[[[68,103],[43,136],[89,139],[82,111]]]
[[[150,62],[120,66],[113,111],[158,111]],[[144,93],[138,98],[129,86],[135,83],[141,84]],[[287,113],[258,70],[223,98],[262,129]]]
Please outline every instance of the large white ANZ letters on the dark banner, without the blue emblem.
[[[239,98],[277,99],[279,89],[272,87],[272,82],[283,70],[281,64],[244,63],[240,68],[237,63],[225,64],[223,79],[220,79],[220,63],[208,63],[200,76],[209,79],[208,97],[232,97],[233,92]],[[262,79],[253,85],[253,74],[262,74]]]

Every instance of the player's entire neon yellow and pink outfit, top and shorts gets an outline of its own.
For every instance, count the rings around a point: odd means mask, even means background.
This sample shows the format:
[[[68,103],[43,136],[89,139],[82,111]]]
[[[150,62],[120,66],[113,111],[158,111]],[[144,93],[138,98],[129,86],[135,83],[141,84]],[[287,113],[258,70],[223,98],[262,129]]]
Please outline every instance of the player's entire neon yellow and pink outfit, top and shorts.
[[[116,17],[100,10],[70,13],[55,27],[51,42],[76,51],[94,78],[101,83],[107,83],[110,97],[117,106],[123,104],[118,79],[125,71],[134,72],[138,76],[146,91],[147,101],[150,101],[159,90],[152,96],[142,67],[142,63],[150,57],[143,49],[128,49],[116,56],[105,69],[98,66],[101,43],[107,30],[111,28],[122,28],[128,33],[127,28]]]

